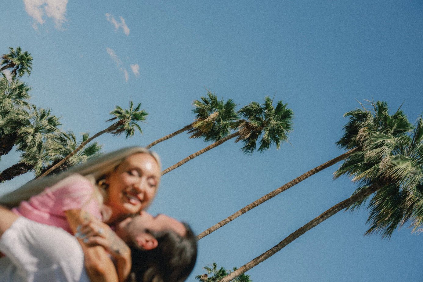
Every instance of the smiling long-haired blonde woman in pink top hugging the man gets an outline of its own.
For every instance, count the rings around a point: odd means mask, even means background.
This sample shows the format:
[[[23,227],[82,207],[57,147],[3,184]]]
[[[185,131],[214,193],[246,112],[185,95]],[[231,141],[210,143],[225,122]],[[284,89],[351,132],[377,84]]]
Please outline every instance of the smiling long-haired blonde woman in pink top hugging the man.
[[[160,176],[157,154],[141,147],[124,148],[27,183],[1,197],[0,205],[15,206],[15,214],[75,234],[90,216],[110,225],[145,209],[157,192]],[[107,257],[102,246],[83,248],[88,257]],[[116,248],[121,248],[116,250],[117,275],[124,281],[131,268],[130,251],[126,244]],[[112,261],[102,263],[113,275]]]

